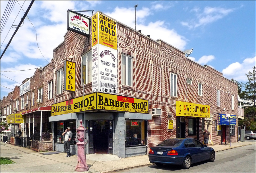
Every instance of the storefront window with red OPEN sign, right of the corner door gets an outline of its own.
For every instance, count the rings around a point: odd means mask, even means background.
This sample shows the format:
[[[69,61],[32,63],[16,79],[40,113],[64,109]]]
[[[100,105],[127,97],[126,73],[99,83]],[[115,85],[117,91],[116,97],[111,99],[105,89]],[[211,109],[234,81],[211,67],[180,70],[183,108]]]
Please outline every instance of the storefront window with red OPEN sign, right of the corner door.
[[[146,145],[146,121],[126,120],[125,146]]]

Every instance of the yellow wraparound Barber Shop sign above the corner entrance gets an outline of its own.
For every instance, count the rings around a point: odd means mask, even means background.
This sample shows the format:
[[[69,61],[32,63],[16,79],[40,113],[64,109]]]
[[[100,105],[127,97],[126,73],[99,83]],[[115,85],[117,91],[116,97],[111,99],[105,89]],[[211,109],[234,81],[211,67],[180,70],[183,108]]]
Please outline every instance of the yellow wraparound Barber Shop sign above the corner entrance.
[[[94,92],[53,104],[51,106],[51,116],[81,112],[83,110],[107,110],[148,114],[148,100]]]

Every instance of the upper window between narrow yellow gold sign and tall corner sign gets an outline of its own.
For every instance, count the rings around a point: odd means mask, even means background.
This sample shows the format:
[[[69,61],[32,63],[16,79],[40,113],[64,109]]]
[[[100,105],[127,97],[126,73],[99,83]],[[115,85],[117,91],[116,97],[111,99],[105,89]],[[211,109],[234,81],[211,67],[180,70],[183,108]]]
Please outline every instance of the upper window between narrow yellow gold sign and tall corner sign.
[[[81,83],[83,85],[92,82],[92,51],[90,50],[86,54],[82,55],[81,59]]]

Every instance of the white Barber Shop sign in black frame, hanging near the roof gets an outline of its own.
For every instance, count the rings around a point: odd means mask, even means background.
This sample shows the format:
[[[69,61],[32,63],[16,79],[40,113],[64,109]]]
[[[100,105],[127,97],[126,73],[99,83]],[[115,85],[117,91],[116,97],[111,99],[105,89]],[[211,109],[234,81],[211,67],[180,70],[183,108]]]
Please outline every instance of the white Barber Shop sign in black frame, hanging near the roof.
[[[84,36],[90,36],[90,17],[68,10],[67,30],[74,31]]]

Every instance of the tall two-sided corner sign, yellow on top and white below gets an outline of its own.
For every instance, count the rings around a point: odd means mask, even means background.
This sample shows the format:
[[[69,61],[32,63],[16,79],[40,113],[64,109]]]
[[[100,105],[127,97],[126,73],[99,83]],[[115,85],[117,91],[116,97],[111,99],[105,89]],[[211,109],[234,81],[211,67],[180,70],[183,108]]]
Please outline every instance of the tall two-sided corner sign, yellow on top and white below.
[[[92,92],[117,94],[116,22],[100,13],[92,17]]]

